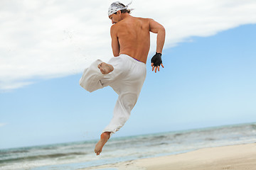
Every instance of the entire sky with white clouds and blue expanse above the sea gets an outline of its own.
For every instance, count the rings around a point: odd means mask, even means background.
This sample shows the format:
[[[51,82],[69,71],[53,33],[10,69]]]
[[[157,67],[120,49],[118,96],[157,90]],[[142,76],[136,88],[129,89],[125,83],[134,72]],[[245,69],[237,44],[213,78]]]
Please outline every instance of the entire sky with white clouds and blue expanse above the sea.
[[[117,94],[89,93],[78,81],[91,62],[112,57],[111,3],[0,1],[0,149],[100,137]],[[134,0],[130,8],[166,28],[164,69],[151,72],[151,34],[141,95],[113,137],[256,122],[256,1]]]

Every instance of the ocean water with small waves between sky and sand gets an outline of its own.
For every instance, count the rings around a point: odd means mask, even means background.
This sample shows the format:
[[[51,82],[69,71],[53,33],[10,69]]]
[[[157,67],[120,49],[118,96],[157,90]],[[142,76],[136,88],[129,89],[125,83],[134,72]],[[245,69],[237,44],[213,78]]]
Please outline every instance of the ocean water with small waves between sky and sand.
[[[110,139],[100,156],[97,140],[0,150],[0,169],[73,170],[190,152],[206,147],[256,142],[256,123],[162,132]],[[105,169],[112,170],[112,169]]]

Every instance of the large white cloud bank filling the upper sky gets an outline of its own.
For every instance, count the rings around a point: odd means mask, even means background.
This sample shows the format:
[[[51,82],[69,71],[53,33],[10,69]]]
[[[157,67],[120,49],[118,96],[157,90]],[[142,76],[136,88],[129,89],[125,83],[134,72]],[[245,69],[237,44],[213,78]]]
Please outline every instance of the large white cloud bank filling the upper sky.
[[[1,0],[0,90],[77,74],[97,58],[107,61],[111,2]],[[165,47],[256,23],[255,0],[134,0],[131,8],[133,16],[154,18],[166,28]]]

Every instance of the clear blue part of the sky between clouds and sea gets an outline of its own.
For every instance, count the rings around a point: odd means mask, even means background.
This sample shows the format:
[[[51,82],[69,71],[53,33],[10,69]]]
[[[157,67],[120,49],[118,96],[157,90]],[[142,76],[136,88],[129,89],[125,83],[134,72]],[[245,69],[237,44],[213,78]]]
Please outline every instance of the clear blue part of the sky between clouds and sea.
[[[164,50],[164,69],[147,77],[131,118],[115,137],[256,121],[256,25],[193,37]],[[151,55],[149,55],[149,59]],[[36,80],[1,93],[1,148],[97,139],[117,94],[89,93],[81,74]]]

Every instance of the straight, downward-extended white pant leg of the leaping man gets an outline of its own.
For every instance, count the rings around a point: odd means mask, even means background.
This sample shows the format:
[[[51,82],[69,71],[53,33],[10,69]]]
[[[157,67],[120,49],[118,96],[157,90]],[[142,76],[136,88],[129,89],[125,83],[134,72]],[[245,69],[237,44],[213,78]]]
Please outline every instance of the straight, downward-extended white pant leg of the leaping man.
[[[144,63],[138,64],[132,57],[128,57],[124,63],[122,65],[122,77],[110,84],[119,96],[114,106],[112,120],[102,132],[111,132],[111,135],[122,128],[129,119],[146,78],[146,65]]]

